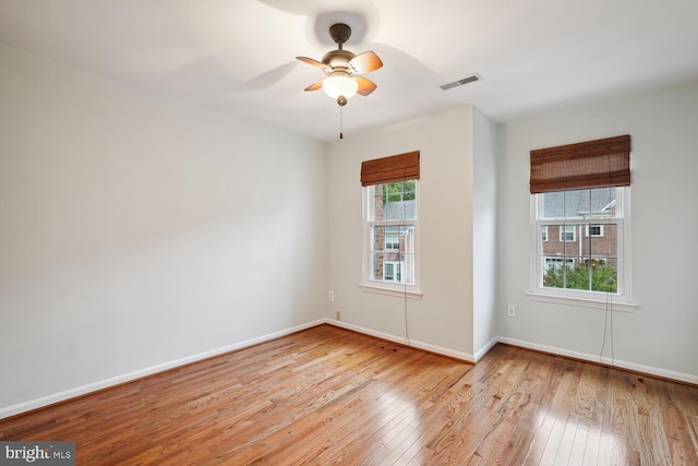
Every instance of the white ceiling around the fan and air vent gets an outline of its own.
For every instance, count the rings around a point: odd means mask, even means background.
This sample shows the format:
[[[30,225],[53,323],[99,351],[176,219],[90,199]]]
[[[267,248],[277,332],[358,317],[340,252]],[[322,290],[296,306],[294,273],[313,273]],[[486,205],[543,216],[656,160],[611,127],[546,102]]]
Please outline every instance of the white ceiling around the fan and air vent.
[[[317,140],[339,107],[294,60],[373,50],[344,131],[473,104],[493,121],[698,77],[698,0],[0,0],[0,43]],[[472,73],[481,82],[442,91]]]

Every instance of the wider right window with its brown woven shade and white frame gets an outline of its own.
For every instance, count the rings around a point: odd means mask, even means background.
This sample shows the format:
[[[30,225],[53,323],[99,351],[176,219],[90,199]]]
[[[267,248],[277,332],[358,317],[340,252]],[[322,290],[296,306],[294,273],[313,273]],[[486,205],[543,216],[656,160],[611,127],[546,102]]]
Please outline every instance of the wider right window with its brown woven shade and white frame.
[[[631,310],[629,181],[629,136],[531,151],[530,297]]]

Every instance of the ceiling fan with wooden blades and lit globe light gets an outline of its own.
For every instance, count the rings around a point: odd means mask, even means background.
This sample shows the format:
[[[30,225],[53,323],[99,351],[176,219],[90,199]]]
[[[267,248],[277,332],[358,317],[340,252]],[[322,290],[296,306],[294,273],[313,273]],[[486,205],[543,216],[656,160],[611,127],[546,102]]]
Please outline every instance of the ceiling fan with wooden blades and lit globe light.
[[[333,24],[329,27],[329,37],[337,44],[337,50],[330,50],[323,57],[322,61],[308,57],[296,57],[303,63],[322,68],[327,74],[323,81],[318,81],[304,91],[317,91],[323,88],[325,93],[337,99],[337,104],[344,107],[354,94],[366,96],[371,94],[377,85],[360,74],[370,73],[383,67],[383,61],[373,51],[364,51],[356,55],[344,49],[344,44],[351,36],[351,27],[344,23]]]

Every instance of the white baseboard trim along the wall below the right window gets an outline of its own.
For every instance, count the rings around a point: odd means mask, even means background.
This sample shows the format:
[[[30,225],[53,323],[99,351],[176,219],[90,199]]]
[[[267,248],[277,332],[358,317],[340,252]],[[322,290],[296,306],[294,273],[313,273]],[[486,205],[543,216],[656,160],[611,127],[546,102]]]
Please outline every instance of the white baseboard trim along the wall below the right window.
[[[691,374],[687,374],[687,373],[683,373],[683,372],[674,372],[674,371],[670,371],[670,370],[665,370],[665,369],[659,369],[659,368],[654,368],[651,366],[642,366],[642,365],[636,365],[634,362],[628,362],[628,361],[622,361],[622,360],[617,360],[614,359],[612,360],[611,358],[599,358],[599,356],[597,355],[590,355],[587,353],[579,353],[579,351],[571,351],[568,349],[564,349],[564,348],[558,348],[555,346],[547,346],[547,345],[539,345],[537,343],[530,343],[530,342],[525,342],[521,339],[515,339],[515,338],[506,338],[506,337],[497,337],[497,340],[500,343],[504,343],[507,345],[512,345],[512,346],[519,346],[521,348],[526,348],[526,349],[533,349],[537,351],[541,351],[541,353],[547,353],[551,355],[557,355],[557,356],[563,356],[563,357],[567,357],[567,358],[573,358],[573,359],[579,359],[579,360],[583,360],[583,361],[589,361],[589,362],[594,362],[594,363],[600,363],[602,366],[606,366],[610,368],[616,368],[616,369],[625,369],[631,372],[638,372],[638,373],[642,373],[642,374],[647,374],[647,375],[653,375],[653,377],[658,377],[661,379],[666,379],[666,380],[671,380],[671,381],[676,381],[676,382],[685,382],[685,383],[689,383],[691,385],[698,385],[698,375],[691,375]]]

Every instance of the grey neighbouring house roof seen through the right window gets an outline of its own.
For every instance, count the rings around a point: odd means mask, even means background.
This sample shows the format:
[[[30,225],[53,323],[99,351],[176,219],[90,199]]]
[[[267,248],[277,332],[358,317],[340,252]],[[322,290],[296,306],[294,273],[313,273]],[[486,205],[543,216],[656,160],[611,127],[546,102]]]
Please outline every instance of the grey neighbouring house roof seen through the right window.
[[[607,212],[615,205],[615,189],[601,188],[543,194],[544,218],[587,217]]]

